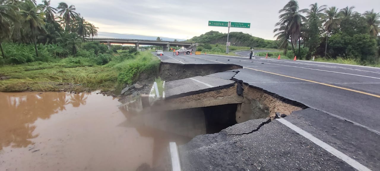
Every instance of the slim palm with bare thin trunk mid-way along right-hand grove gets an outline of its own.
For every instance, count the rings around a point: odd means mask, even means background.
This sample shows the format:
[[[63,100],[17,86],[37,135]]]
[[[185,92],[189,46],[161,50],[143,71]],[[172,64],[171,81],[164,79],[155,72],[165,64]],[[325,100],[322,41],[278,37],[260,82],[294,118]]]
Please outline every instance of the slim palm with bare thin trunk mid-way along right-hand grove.
[[[326,47],[325,47],[325,56],[327,53],[327,41],[329,38],[329,34],[331,33],[332,29],[336,29],[340,24],[340,14],[338,13],[338,8],[335,6],[332,6],[325,10],[325,24],[323,27],[326,29]]]

